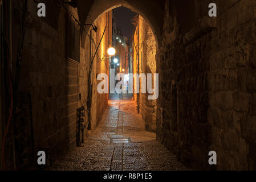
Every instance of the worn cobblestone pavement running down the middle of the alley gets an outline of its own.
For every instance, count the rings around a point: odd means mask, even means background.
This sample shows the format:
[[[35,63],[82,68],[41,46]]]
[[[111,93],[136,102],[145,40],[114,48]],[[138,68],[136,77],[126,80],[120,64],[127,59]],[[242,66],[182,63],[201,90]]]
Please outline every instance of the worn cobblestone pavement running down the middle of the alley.
[[[72,150],[52,170],[187,170],[156,140],[155,133],[145,131],[134,101],[117,94],[110,99],[101,123],[83,147]]]

